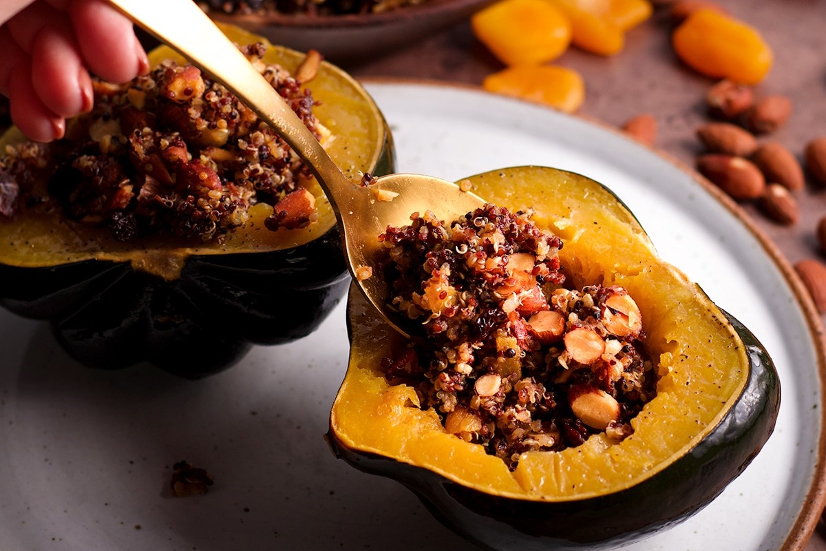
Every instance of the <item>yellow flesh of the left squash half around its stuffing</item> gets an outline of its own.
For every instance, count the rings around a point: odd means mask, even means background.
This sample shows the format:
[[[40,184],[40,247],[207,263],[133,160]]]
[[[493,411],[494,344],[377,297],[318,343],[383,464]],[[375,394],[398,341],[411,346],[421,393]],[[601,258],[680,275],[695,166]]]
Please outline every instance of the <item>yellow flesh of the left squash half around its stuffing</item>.
[[[239,45],[262,40],[234,26],[225,26],[223,30]],[[297,51],[268,45],[263,62],[280,64],[295,74],[304,58],[305,55]],[[185,59],[165,46],[150,54],[153,65],[164,59],[186,63]],[[387,151],[387,132],[381,114],[364,89],[349,74],[325,62],[305,88],[311,89],[316,100],[313,112],[330,130],[325,149],[344,173],[358,182],[366,168],[375,167],[382,172],[382,164],[387,164],[387,159],[383,158]],[[20,140],[22,136],[12,129],[0,145]],[[12,221],[0,223],[0,263],[44,267],[86,259],[128,261],[136,269],[173,279],[180,273],[185,259],[194,254],[292,249],[325,235],[335,226],[335,215],[318,183],[315,179],[309,179],[305,184],[316,197],[317,223],[297,230],[268,230],[263,221],[272,213],[272,205],[259,203],[252,207],[249,221],[231,232],[221,244],[193,244],[191,240],[170,240],[168,235],[122,243],[107,230],[61,216],[44,216],[22,210]]]

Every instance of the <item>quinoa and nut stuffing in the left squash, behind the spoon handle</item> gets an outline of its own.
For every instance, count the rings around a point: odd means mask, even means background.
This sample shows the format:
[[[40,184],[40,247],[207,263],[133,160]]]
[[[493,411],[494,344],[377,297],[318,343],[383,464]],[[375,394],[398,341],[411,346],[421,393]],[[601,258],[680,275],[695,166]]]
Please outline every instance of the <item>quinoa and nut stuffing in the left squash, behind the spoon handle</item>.
[[[303,83],[265,64],[262,43],[241,50],[323,140],[329,132]],[[2,152],[0,215],[62,211],[125,242],[154,234],[221,242],[258,202],[282,204],[271,230],[315,220],[315,199],[300,185],[310,174],[303,161],[200,69],[167,61],[130,83],[94,80],[93,88],[93,110],[71,121],[64,139]]]

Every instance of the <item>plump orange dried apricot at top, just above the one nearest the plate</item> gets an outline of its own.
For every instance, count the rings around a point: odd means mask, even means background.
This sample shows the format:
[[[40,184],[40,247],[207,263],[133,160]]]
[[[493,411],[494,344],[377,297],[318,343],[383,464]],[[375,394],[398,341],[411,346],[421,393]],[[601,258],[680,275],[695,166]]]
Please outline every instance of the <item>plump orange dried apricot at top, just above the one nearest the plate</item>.
[[[571,22],[547,0],[502,0],[475,13],[471,26],[506,65],[551,61],[571,44]]]

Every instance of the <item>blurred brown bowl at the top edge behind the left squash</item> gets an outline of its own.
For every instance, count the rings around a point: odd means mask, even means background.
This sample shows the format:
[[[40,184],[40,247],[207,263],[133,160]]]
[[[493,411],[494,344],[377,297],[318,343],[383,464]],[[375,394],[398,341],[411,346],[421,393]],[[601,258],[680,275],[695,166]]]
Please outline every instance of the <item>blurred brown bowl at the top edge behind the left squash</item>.
[[[208,12],[295,50],[318,50],[335,64],[359,64],[453,25],[496,0],[427,0],[387,12],[344,15]]]

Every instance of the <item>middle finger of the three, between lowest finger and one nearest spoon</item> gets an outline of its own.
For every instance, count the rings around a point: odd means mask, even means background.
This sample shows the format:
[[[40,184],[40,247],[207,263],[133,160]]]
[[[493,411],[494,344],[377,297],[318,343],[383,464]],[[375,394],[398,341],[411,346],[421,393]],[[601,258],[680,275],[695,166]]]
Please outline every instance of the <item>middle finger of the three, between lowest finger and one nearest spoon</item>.
[[[91,107],[92,83],[68,24],[40,29],[31,46],[31,83],[45,107],[59,116]]]

